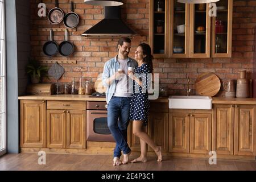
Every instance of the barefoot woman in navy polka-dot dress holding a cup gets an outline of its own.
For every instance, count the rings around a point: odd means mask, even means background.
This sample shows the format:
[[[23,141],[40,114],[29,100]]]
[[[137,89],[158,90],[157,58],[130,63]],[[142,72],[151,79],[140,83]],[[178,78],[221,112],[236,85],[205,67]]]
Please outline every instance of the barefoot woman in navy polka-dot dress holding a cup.
[[[152,58],[150,46],[145,43],[139,44],[135,51],[135,60],[138,62],[138,67],[135,74],[131,71],[127,72],[128,76],[134,80],[130,119],[133,121],[133,134],[139,137],[141,143],[141,156],[131,161],[131,163],[147,162],[147,144],[155,151],[158,162],[162,161],[161,147],[156,146],[148,134],[143,131],[143,125],[147,125],[150,106],[147,93],[147,77],[148,73],[152,73],[153,70]]]

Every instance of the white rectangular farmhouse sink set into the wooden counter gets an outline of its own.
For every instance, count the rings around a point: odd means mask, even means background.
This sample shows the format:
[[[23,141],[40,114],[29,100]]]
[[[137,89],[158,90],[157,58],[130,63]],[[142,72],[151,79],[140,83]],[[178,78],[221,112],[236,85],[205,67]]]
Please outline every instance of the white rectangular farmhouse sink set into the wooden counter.
[[[170,109],[212,109],[212,97],[208,96],[171,96]]]

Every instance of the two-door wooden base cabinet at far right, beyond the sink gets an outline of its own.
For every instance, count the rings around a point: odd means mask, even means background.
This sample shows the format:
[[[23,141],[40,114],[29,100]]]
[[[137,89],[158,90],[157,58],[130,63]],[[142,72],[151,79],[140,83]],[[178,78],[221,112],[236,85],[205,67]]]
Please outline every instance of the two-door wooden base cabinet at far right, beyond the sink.
[[[256,106],[213,107],[213,150],[217,154],[256,155]]]

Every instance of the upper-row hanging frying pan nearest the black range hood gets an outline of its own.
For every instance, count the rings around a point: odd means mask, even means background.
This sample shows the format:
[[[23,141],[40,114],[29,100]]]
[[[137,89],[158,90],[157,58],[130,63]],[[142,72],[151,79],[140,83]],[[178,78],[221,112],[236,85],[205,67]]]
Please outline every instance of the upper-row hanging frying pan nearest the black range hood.
[[[77,24],[79,24],[79,15],[77,15],[74,11],[73,8],[73,2],[71,1],[71,12],[69,12],[68,14],[66,14],[64,16],[64,26],[67,28],[75,28],[77,26]]]

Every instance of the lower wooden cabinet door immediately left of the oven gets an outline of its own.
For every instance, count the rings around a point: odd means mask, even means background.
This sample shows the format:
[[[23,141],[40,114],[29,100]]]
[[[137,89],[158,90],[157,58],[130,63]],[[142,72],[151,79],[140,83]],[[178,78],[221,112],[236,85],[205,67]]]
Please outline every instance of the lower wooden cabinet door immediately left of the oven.
[[[85,148],[85,111],[67,111],[67,148]]]

